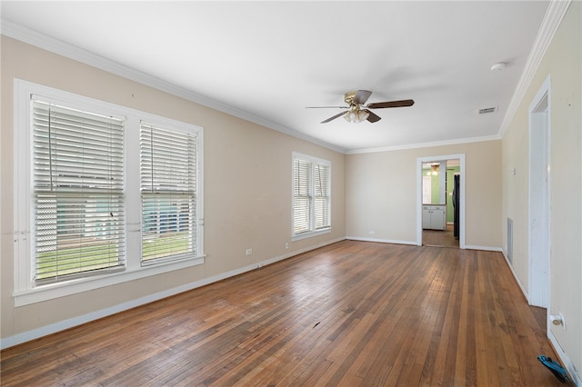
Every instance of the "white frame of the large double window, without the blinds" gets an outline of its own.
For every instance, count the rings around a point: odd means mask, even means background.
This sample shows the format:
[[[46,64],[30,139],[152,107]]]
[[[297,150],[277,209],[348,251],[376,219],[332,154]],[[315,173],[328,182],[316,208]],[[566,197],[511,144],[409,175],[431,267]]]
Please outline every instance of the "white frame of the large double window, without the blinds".
[[[170,118],[149,114],[125,106],[110,104],[41,84],[15,79],[14,104],[14,301],[15,306],[38,303],[82,293],[97,288],[125,283],[139,278],[167,273],[204,263],[204,128]],[[125,119],[125,270],[76,278],[66,282],[35,284],[34,281],[34,174],[32,173],[31,101],[37,99],[95,114]],[[37,97],[38,96],[38,97]],[[141,263],[141,197],[140,197],[140,123],[146,121],[163,127],[195,133],[196,151],[196,242],[195,255],[181,260],[143,265]]]

